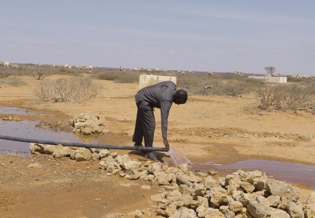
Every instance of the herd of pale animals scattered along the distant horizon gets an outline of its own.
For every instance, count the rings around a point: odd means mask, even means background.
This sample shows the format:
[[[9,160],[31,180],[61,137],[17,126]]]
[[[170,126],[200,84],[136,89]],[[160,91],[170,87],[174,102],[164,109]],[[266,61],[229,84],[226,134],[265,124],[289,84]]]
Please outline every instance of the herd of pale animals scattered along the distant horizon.
[[[38,66],[41,66],[40,63],[37,64]],[[2,67],[14,67],[14,68],[18,68],[19,65],[18,64],[15,64],[15,63],[9,63],[9,62],[0,62],[0,66]],[[72,66],[71,65],[68,65],[68,64],[64,64],[64,65],[61,65],[61,64],[51,64],[52,67],[63,67],[63,68],[68,68],[68,69],[71,69]],[[26,66],[24,66],[26,67]],[[29,68],[30,66],[28,66]],[[93,66],[90,65],[90,66],[83,66],[83,65],[77,65],[75,66],[75,69],[76,70],[88,70],[89,72],[93,72]],[[126,69],[124,69],[122,66],[119,66],[119,70],[120,71],[124,71],[126,72]],[[130,68],[129,71],[136,71],[136,72],[148,72],[148,73],[154,73],[154,72],[167,72],[167,69],[158,69],[158,68],[148,68],[148,69],[144,69],[143,67],[135,67],[135,68]],[[189,71],[189,74],[190,73],[195,73],[194,71]],[[233,72],[234,74],[238,75],[238,76],[243,76],[243,72],[242,71],[234,71]],[[170,74],[171,75],[176,75],[176,74],[179,74],[179,75],[185,75],[185,71],[182,71],[182,70],[177,70],[177,71],[170,71]],[[208,71],[208,75],[209,76],[212,76],[213,75],[213,72],[212,70],[209,70]],[[273,73],[273,74],[267,74],[266,75],[267,77],[285,77],[287,76],[286,74],[279,74],[279,73]],[[294,74],[292,75],[291,77],[293,78],[300,78],[300,79],[311,79],[311,78],[314,78],[315,79],[315,76],[310,76],[310,75],[299,75],[299,74]]]

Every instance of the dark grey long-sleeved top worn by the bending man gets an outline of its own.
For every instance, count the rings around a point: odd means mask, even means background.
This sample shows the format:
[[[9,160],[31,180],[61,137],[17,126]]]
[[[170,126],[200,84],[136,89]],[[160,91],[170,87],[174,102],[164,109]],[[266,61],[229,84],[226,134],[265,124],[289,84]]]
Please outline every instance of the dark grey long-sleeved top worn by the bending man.
[[[153,107],[161,109],[161,128],[163,138],[166,138],[167,136],[168,113],[172,106],[173,96],[175,93],[175,83],[172,81],[166,81],[153,86],[147,86],[134,95],[136,103],[144,100],[149,102]],[[148,110],[150,110],[150,108],[148,108]]]

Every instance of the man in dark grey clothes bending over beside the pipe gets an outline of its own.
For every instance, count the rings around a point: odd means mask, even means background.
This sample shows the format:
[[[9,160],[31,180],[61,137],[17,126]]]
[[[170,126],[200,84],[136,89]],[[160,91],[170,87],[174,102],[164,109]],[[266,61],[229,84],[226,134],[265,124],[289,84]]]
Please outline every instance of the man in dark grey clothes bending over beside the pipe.
[[[137,119],[134,128],[132,141],[134,146],[142,146],[144,137],[145,147],[152,147],[156,121],[154,118],[154,108],[161,109],[161,128],[163,143],[167,151],[169,144],[167,141],[167,118],[172,103],[185,104],[187,101],[185,90],[176,91],[176,85],[172,81],[161,82],[153,86],[148,86],[140,90],[135,96],[137,104]],[[146,157],[157,159],[153,152],[146,153]]]

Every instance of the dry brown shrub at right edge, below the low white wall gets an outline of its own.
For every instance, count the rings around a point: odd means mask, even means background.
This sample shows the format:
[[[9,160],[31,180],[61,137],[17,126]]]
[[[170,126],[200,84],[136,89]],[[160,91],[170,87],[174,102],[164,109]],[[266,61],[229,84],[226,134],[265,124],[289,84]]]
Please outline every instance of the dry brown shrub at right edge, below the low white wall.
[[[254,89],[258,108],[266,110],[293,110],[314,108],[315,98],[313,87],[297,85],[269,85]]]

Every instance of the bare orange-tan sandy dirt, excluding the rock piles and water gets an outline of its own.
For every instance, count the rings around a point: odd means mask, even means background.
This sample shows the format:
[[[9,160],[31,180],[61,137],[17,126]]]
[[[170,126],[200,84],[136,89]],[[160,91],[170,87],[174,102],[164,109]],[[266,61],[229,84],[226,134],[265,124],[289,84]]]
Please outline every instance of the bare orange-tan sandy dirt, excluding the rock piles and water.
[[[52,76],[49,79],[61,77]],[[19,115],[20,119],[64,122],[74,115],[91,111],[106,118],[106,128],[115,136],[112,143],[132,146],[137,84],[96,80],[103,86],[102,96],[85,103],[32,104],[31,77],[27,86],[0,88],[0,106],[32,109],[38,115]],[[260,111],[251,95],[189,96],[184,105],[173,105],[168,122],[168,140],[193,161],[232,163],[247,158],[280,160],[315,165],[315,116],[299,111]],[[4,114],[0,114],[3,116]],[[155,147],[163,147],[160,113],[155,111]],[[145,160],[138,153],[119,151]],[[36,159],[35,159],[36,158]],[[169,161],[169,156],[163,159]],[[39,162],[40,169],[26,168]],[[149,207],[150,195],[158,188],[142,190],[147,182],[126,181],[106,176],[98,161],[75,162],[51,156],[29,158],[1,155],[0,214],[4,217],[102,217],[112,212],[130,212]],[[89,168],[87,168],[89,167]],[[36,180],[38,179],[38,180]],[[120,186],[130,183],[130,187]],[[23,185],[20,185],[23,184]],[[312,190],[294,185],[305,200]],[[100,200],[95,200],[100,198]],[[108,203],[106,203],[108,202]]]

